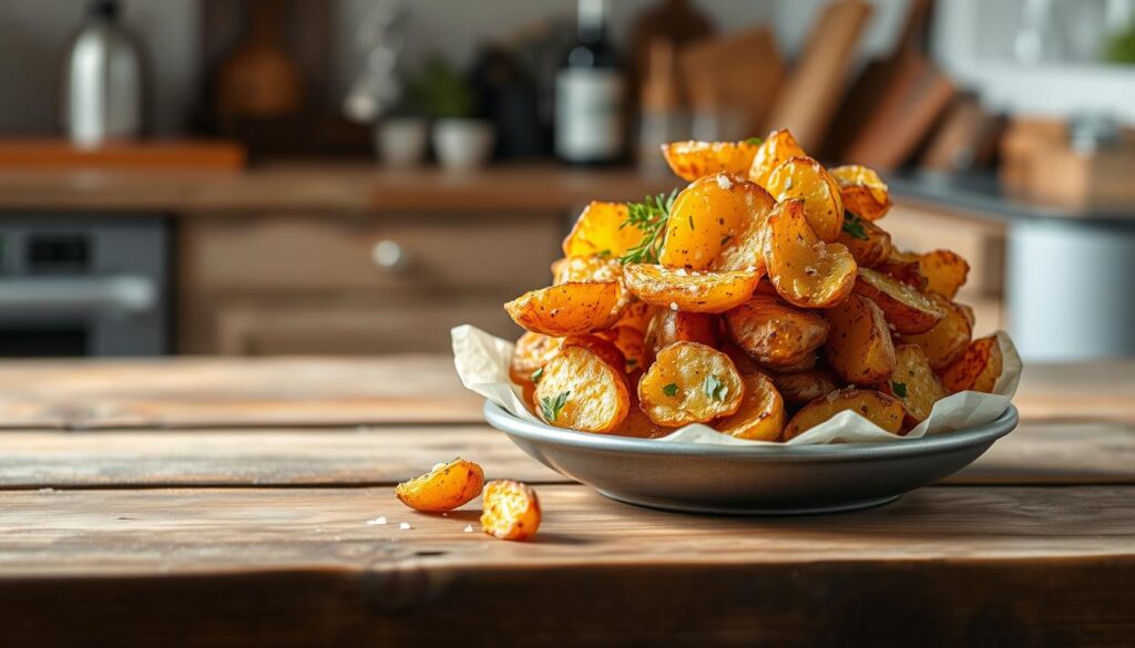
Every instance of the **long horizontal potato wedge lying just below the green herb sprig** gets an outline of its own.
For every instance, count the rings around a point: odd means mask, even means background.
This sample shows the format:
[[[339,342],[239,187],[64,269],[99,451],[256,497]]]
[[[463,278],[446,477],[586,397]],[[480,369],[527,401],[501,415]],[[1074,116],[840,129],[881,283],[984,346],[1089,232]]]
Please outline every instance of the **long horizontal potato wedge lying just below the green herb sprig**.
[[[623,281],[636,297],[655,306],[687,313],[723,313],[753,295],[760,275],[631,263],[623,267]]]

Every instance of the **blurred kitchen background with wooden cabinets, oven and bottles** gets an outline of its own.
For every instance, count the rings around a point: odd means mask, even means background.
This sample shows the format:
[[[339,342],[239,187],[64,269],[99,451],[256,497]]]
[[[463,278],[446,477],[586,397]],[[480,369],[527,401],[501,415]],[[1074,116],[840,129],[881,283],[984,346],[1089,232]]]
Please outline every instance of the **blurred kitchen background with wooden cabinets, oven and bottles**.
[[[976,333],[1135,355],[1133,0],[6,0],[0,89],[0,355],[513,337],[588,200],[678,184],[638,151],[780,126]]]

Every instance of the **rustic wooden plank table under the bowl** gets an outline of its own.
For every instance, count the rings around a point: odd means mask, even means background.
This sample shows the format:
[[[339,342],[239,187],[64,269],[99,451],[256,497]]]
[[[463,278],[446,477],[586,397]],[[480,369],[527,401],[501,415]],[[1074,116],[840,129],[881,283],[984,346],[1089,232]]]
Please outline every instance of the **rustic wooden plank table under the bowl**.
[[[709,517],[528,458],[448,359],[8,362],[0,646],[1130,646],[1135,363],[1017,402],[890,506]],[[536,541],[392,496],[459,454],[536,486]]]

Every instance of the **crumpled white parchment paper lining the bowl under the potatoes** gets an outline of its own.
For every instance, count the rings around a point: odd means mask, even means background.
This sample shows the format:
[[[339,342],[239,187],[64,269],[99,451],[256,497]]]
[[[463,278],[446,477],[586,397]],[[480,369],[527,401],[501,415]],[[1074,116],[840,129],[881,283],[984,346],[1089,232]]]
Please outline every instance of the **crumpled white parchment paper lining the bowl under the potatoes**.
[[[514,416],[537,421],[524,405],[521,388],[508,379],[508,363],[513,343],[501,339],[484,330],[463,325],[453,329],[453,359],[465,388],[471,389],[501,405]],[[934,404],[930,418],[906,436],[894,436],[859,415],[858,412],[840,412],[821,426],[792,438],[787,444],[738,439],[723,435],[708,426],[695,423],[679,428],[658,443],[695,443],[720,445],[813,445],[833,441],[892,441],[901,443],[925,435],[960,430],[993,421],[1009,407],[1017,385],[1020,382],[1020,355],[1004,331],[997,333],[1001,347],[1003,368],[993,394],[961,392],[942,398]]]

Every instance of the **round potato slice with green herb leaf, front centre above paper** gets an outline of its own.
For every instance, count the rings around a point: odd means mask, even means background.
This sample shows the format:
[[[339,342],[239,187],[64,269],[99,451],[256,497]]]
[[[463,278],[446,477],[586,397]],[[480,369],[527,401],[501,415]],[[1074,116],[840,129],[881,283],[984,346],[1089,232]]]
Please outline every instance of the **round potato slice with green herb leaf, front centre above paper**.
[[[678,342],[658,352],[639,381],[638,396],[639,406],[656,424],[680,427],[737,412],[745,386],[724,353]]]

